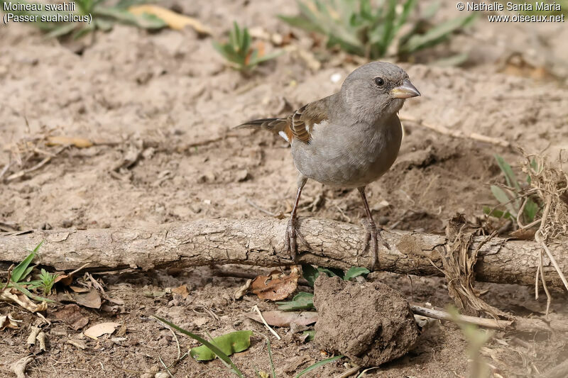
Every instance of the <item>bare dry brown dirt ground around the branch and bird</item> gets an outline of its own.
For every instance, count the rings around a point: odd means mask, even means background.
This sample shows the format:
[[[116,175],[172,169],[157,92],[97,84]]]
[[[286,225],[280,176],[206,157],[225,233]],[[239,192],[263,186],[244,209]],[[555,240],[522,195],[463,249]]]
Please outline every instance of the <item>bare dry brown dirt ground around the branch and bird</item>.
[[[454,2],[442,3],[442,16],[457,16]],[[289,26],[273,15],[296,10],[292,1],[285,0],[165,5],[199,18],[217,37],[233,20],[284,35]],[[310,46],[307,35],[294,33],[292,46]],[[315,70],[297,49],[288,48],[244,77],[224,67],[211,38],[200,38],[192,30],[146,33],[115,26],[109,33],[97,33],[79,54],[76,46],[74,52],[30,26],[1,25],[0,34],[4,93],[0,167],[13,162],[0,182],[4,230],[143,227],[206,217],[268,216],[259,209],[287,215],[295,196],[295,167],[285,142],[270,133],[232,127],[252,118],[284,115],[332,94],[357,65],[331,56]],[[422,93],[407,101],[402,116],[506,140],[553,158],[568,148],[565,24],[497,24],[480,17],[466,35],[444,49],[465,50],[471,60],[466,67],[401,64]],[[434,53],[438,50],[443,49]],[[522,60],[516,52],[522,53]],[[333,82],[333,74],[342,80]],[[441,233],[455,213],[465,213],[471,221],[483,218],[483,205],[495,204],[487,184],[503,182],[493,155],[516,162],[518,152],[471,138],[452,138],[415,123],[404,126],[398,160],[368,187],[376,221],[385,228]],[[11,160],[10,146],[44,135],[88,138],[97,144],[61,151],[41,146],[58,153],[38,169],[6,180],[21,170]],[[136,161],[129,165],[133,155]],[[25,167],[48,156],[43,150],[37,152]],[[351,223],[359,223],[364,215],[356,191],[315,182],[308,182],[300,208],[300,216]],[[22,245],[22,257],[24,248],[33,246]],[[233,269],[250,275],[267,272]],[[121,304],[111,312],[82,307],[80,313],[89,318],[89,325],[103,321],[126,325],[126,340],[82,337],[81,330],[72,330],[55,317],[64,304],[48,308],[48,325],[0,303],[1,314],[12,312],[23,319],[18,330],[0,331],[0,375],[13,376],[11,363],[28,355],[29,325],[41,325],[48,335],[48,350],[37,353],[28,365],[30,377],[153,377],[163,367],[160,357],[170,365],[178,356],[175,338],[150,317],[153,314],[202,335],[251,329],[255,332],[251,348],[235,355],[234,362],[247,376],[252,377],[256,368],[268,371],[262,335],[269,334],[242,313],[255,304],[261,311],[275,305],[251,294],[235,301],[234,291],[245,279],[222,277],[215,267],[107,272],[94,277]],[[375,272],[369,279],[380,279],[410,301],[441,308],[451,302],[444,280],[437,277]],[[182,284],[190,291],[186,299],[169,290]],[[544,314],[545,299],[541,295],[536,301],[534,288],[496,284],[479,284],[479,288],[488,289],[484,299],[503,311]],[[568,321],[566,300],[566,294],[555,293],[552,317]],[[325,357],[314,343],[295,340],[284,328],[278,332],[284,336],[272,341],[278,377],[293,377]],[[182,352],[197,345],[178,338]],[[69,339],[80,340],[86,348],[66,343]],[[430,322],[408,355],[368,376],[467,377],[466,348],[458,328]],[[568,340],[556,334],[496,332],[482,354],[495,377],[531,377],[564,361]],[[334,377],[345,370],[341,362],[334,362],[307,376]],[[179,362],[172,372],[176,377],[229,376],[219,360],[204,364],[191,358]]]

